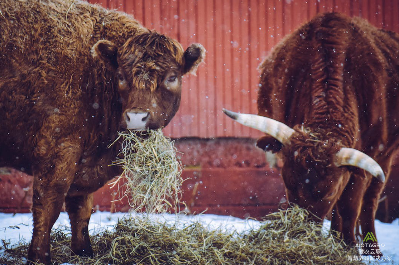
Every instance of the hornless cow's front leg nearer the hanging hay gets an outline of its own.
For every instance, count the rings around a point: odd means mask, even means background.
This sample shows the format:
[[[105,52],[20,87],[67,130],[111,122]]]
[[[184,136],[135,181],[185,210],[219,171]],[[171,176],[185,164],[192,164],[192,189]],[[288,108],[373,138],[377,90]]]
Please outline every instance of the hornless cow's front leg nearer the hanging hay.
[[[93,194],[67,196],[65,205],[71,221],[72,251],[76,255],[93,257],[88,228],[93,209]]]

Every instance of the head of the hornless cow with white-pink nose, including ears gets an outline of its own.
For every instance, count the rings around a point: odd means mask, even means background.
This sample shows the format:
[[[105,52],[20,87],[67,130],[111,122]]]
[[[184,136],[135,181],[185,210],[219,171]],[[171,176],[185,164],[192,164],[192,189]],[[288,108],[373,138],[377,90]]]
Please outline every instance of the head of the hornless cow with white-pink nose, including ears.
[[[92,48],[113,73],[122,103],[120,129],[158,129],[165,127],[180,105],[182,76],[195,74],[205,57],[201,44],[186,51],[164,35],[147,32],[128,39],[117,47],[99,40]]]

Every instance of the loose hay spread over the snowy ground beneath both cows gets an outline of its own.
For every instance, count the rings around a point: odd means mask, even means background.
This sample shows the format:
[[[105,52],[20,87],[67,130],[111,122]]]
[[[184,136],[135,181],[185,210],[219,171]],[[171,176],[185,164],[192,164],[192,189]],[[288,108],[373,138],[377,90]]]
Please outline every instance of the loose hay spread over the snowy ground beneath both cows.
[[[52,233],[53,261],[85,265],[348,265],[358,255],[338,237],[326,235],[322,225],[307,221],[298,207],[267,216],[259,228],[237,232],[211,229],[199,222],[166,223],[149,218],[120,220],[113,231],[97,232],[91,240],[94,258],[73,256],[70,235]],[[22,247],[26,251],[26,247]],[[9,252],[10,251],[10,252]],[[5,253],[15,254],[15,250]],[[12,262],[11,262],[12,261]],[[20,260],[0,259],[19,264]]]

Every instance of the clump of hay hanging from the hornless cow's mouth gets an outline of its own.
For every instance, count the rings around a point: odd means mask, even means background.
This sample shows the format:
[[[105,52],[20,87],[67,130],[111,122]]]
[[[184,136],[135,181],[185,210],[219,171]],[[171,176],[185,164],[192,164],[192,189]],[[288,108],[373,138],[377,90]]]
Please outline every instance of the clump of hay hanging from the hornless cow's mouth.
[[[126,130],[119,133],[115,142],[120,138],[122,150],[113,165],[121,166],[123,173],[110,183],[113,188],[126,181],[124,191],[119,190],[122,194],[119,200],[126,196],[134,211],[145,208],[148,213],[178,212],[183,180],[174,141],[166,138],[161,129]]]

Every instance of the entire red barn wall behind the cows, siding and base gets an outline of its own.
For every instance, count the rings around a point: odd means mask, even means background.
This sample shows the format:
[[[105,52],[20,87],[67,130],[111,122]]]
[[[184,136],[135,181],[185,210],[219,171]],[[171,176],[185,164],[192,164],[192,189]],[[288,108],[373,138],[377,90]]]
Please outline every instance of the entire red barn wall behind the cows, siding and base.
[[[257,67],[273,46],[319,12],[361,16],[379,28],[399,32],[398,0],[89,2],[133,14],[144,26],[176,38],[184,48],[193,42],[205,46],[205,65],[197,76],[184,77],[181,107],[164,133],[175,138],[184,153],[183,176],[188,180],[182,187],[183,199],[190,211],[238,217],[261,217],[284,202],[279,168],[270,169],[263,152],[254,146],[261,134],[221,113],[223,107],[257,113]],[[391,176],[384,194],[388,199],[379,209],[381,219],[398,216],[396,182],[399,176]],[[31,197],[30,176],[15,170],[0,172],[0,211],[28,212]],[[95,194],[95,208],[127,210],[126,201],[111,202],[117,197],[106,185]]]

